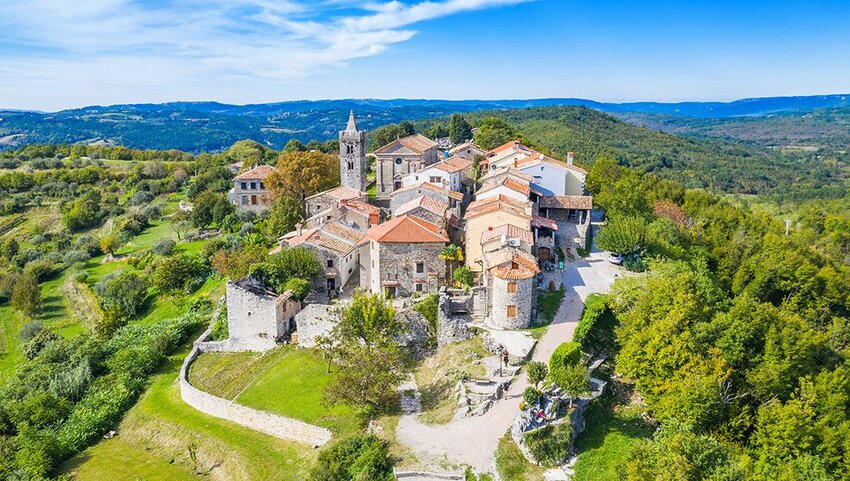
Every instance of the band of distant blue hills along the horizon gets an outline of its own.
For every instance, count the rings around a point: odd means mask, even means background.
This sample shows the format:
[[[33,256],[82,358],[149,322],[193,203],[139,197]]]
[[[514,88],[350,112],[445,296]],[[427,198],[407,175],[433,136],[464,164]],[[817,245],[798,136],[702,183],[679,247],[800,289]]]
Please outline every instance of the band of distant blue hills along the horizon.
[[[98,142],[135,148],[201,152],[219,151],[246,138],[281,148],[294,138],[306,142],[335,137],[336,132],[345,125],[349,110],[357,112],[360,125],[374,129],[402,120],[428,119],[455,112],[552,106],[582,106],[623,116],[667,114],[726,118],[850,107],[850,95],[772,97],[726,103],[604,103],[576,98],[456,101],[343,99],[254,105],[217,102],[130,104],[91,106],[53,113],[6,110],[0,111],[0,148],[34,143]]]

